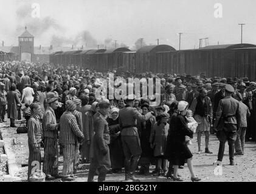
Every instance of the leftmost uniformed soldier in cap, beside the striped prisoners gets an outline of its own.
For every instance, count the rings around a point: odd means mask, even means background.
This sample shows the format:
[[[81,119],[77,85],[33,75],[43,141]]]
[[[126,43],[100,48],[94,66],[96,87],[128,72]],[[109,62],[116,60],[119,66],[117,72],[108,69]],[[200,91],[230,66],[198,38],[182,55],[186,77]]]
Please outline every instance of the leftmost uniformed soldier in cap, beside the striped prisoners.
[[[93,159],[89,167],[88,182],[94,180],[96,170],[99,171],[98,182],[105,181],[106,174],[111,167],[111,161],[109,156],[110,136],[108,129],[108,122],[106,116],[109,113],[109,102],[99,102],[99,112],[93,116],[94,120],[94,137],[92,139],[93,146]]]

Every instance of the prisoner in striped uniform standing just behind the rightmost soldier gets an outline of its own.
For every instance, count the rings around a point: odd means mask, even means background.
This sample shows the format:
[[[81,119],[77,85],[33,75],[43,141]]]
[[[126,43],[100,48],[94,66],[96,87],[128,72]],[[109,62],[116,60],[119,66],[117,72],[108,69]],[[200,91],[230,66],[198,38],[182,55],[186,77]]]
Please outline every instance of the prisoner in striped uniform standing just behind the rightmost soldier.
[[[237,131],[234,155],[244,155],[244,142],[247,129],[247,119],[249,119],[251,113],[247,105],[243,103],[243,96],[241,95],[241,93],[237,93],[237,96],[240,102],[241,125],[240,129]]]

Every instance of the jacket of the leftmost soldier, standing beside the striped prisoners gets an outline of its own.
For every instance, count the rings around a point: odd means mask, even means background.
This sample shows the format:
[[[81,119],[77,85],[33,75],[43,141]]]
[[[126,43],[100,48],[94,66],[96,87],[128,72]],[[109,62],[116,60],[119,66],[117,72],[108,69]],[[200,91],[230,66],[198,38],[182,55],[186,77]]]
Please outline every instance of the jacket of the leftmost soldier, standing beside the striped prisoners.
[[[110,144],[110,135],[108,129],[108,122],[106,118],[99,112],[93,116],[94,121],[94,141],[100,150],[106,150],[106,146]]]

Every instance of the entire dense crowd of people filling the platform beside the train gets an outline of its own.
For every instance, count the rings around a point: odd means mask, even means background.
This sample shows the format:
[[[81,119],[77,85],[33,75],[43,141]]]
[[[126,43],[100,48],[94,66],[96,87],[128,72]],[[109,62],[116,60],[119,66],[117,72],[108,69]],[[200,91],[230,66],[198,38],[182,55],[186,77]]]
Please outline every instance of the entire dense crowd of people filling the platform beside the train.
[[[139,181],[134,174],[166,176],[182,181],[178,169],[187,163],[192,181],[195,176],[189,145],[195,133],[198,154],[205,137],[205,153],[210,134],[220,141],[218,161],[222,161],[225,142],[229,144],[230,165],[234,155],[244,154],[244,142],[256,141],[256,82],[248,78],[206,78],[169,73],[134,74],[96,72],[75,65],[0,62],[0,122],[5,113],[10,127],[26,119],[29,143],[28,180],[33,161],[46,179],[72,181],[78,164],[89,163],[88,181],[105,181],[108,173],[122,173],[125,181]],[[100,78],[113,73],[118,78],[161,79],[161,104],[153,99],[137,99],[128,94],[108,99],[95,93]],[[108,85],[108,92],[119,85]],[[155,85],[154,85],[155,86]],[[155,92],[156,90],[154,90]],[[122,92],[121,92],[122,93]],[[22,113],[22,114],[21,114]],[[58,173],[58,158],[63,155],[63,170]],[[155,166],[150,172],[150,166]]]

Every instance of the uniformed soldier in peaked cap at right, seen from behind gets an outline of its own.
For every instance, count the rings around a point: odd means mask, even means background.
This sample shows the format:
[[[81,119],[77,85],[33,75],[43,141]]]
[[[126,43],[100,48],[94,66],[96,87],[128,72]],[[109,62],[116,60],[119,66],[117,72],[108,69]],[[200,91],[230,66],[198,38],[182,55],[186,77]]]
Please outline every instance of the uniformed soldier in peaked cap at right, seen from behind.
[[[240,103],[232,98],[232,93],[234,93],[234,87],[229,84],[225,85],[225,97],[220,100],[218,105],[214,127],[217,131],[217,138],[220,141],[218,161],[222,161],[225,143],[228,141],[230,165],[234,166],[235,139],[237,138],[237,130],[240,127],[241,113]]]

